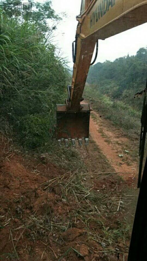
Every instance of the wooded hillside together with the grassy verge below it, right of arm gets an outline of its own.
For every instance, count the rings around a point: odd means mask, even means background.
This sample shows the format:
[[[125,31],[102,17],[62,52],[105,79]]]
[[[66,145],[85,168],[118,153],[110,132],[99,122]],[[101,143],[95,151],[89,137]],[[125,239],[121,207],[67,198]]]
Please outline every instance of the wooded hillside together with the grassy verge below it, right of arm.
[[[86,99],[130,136],[140,131],[143,99],[135,94],[146,87],[146,61],[147,48],[140,48],[136,55],[98,62],[90,67],[87,78]]]

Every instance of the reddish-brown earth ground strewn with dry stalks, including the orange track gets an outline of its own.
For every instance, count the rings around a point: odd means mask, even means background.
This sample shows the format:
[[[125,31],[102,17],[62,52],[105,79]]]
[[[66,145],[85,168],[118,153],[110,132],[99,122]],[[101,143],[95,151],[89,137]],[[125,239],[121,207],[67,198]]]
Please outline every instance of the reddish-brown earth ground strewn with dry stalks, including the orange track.
[[[75,149],[87,166],[84,173],[23,155],[1,135],[1,260],[127,260],[136,162],[127,153],[124,161],[118,156],[124,140],[104,125],[107,139],[101,122],[91,118],[90,145]]]

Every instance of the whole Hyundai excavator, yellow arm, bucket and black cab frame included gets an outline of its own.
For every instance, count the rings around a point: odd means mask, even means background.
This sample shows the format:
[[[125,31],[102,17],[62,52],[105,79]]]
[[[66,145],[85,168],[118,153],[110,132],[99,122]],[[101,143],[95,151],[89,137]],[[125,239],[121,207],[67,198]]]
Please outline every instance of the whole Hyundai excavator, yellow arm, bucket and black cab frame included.
[[[57,105],[58,143],[71,141],[75,146],[88,145],[90,106],[81,103],[90,65],[94,64],[98,53],[98,40],[124,32],[147,22],[147,0],[82,0],[75,41],[72,43],[73,75],[67,86],[68,99]],[[147,32],[144,32],[145,36]],[[137,35],[136,35],[137,37]],[[96,46],[94,61],[91,62]],[[110,48],[111,52],[111,48]],[[144,147],[147,132],[147,84],[141,116],[139,146],[139,197],[134,218],[128,261],[147,260],[147,157],[144,170]]]

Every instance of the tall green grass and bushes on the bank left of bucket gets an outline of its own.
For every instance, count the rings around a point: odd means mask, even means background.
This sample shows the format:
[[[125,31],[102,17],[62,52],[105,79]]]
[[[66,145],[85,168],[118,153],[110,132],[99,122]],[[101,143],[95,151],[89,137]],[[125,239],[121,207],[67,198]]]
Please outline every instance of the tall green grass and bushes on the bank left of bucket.
[[[23,146],[44,146],[53,135],[55,105],[65,97],[66,62],[30,21],[2,14],[0,60],[0,122],[10,124]]]

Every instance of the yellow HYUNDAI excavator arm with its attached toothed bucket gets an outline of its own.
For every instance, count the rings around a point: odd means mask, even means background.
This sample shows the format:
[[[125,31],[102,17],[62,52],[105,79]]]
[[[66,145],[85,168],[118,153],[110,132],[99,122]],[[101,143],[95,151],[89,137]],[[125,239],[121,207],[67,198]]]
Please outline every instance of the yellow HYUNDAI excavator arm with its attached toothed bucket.
[[[71,140],[73,145],[79,139],[81,145],[82,139],[88,144],[89,138],[90,107],[80,103],[95,45],[98,47],[98,39],[146,23],[147,0],[82,0],[81,13],[76,18],[72,84],[68,86],[66,103],[57,105],[57,138],[59,143]]]

